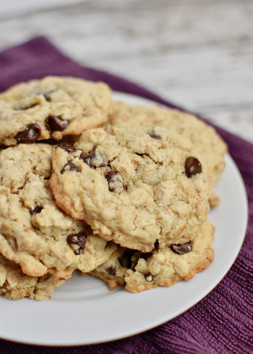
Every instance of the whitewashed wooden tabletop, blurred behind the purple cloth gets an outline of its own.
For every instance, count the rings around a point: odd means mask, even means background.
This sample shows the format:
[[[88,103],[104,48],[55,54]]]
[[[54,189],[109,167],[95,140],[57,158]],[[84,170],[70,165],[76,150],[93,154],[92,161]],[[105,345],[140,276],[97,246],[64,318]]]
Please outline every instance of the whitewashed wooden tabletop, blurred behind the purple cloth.
[[[0,33],[0,50],[46,35],[253,143],[251,0],[0,0]]]

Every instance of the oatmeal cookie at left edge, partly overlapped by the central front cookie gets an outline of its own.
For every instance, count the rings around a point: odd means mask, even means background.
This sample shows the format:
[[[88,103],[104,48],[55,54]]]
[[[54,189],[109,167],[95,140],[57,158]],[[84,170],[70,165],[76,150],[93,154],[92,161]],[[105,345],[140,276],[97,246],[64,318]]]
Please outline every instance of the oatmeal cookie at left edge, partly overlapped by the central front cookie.
[[[0,252],[23,273],[41,277],[56,269],[93,270],[116,248],[56,205],[49,185],[52,146],[20,144],[0,155]],[[104,259],[104,260],[103,260]]]

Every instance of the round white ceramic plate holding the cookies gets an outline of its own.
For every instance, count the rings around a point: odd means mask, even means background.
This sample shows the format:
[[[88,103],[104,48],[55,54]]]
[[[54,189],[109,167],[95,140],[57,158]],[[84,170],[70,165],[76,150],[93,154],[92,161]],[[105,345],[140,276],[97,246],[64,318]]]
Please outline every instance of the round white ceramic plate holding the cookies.
[[[151,101],[115,93],[130,104]],[[110,292],[102,281],[74,274],[51,300],[13,301],[0,297],[0,337],[30,344],[78,345],[110,341],[156,327],[185,312],[221,281],[233,264],[247,225],[247,197],[232,158],[216,187],[221,204],[210,211],[215,226],[215,260],[189,282],[132,294]]]

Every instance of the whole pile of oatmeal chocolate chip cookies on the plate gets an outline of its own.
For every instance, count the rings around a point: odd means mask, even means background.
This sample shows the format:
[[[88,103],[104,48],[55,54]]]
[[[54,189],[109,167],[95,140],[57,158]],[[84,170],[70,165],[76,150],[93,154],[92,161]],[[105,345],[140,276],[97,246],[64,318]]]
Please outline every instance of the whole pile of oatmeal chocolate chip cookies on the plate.
[[[0,95],[0,294],[50,298],[74,270],[139,292],[214,259],[226,144],[177,110],[46,77]]]

